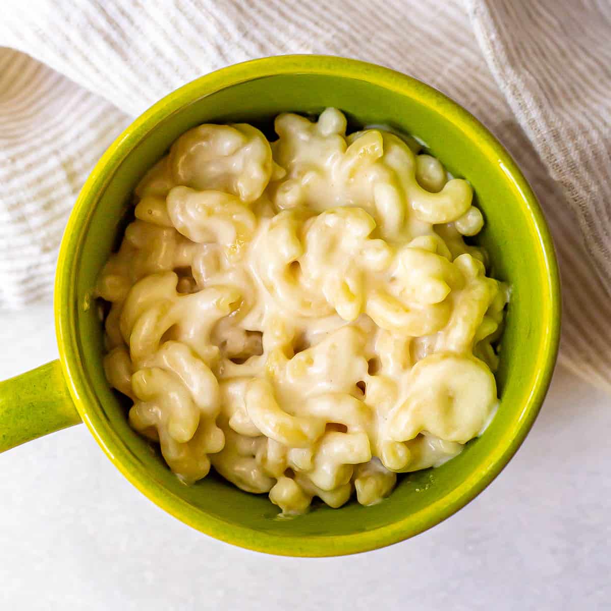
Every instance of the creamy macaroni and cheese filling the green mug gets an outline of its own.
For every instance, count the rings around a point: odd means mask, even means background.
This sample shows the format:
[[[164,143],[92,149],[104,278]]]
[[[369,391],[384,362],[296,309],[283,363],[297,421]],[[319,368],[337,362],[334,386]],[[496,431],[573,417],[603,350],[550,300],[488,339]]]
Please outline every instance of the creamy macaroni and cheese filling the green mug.
[[[463,241],[469,183],[411,137],[332,108],[275,128],[200,125],[137,186],[97,284],[106,377],[186,483],[371,505],[491,419],[508,287]]]

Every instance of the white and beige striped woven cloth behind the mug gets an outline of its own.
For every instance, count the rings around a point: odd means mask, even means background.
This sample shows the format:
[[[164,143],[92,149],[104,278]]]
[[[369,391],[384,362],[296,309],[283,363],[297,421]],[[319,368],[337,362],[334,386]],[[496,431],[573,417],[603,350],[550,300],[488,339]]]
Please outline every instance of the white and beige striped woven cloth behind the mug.
[[[2,0],[0,46],[3,309],[51,294],[79,188],[133,117],[228,64],[335,54],[430,83],[509,148],[560,258],[561,359],[611,389],[608,0]]]

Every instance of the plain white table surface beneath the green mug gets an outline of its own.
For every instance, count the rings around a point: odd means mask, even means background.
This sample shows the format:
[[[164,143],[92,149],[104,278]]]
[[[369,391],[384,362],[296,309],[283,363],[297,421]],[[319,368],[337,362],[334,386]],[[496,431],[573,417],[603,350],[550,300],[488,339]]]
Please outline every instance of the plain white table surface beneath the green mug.
[[[57,355],[51,304],[1,313],[0,379]],[[280,558],[165,514],[84,426],[0,456],[0,609],[611,609],[611,398],[558,368],[499,478],[434,529]]]

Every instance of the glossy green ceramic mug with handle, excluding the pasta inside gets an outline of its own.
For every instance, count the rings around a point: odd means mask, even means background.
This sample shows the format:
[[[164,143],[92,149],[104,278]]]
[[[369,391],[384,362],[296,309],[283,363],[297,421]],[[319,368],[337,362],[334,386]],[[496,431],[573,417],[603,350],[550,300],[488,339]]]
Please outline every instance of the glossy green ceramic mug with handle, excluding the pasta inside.
[[[180,134],[205,122],[252,122],[269,133],[284,111],[335,106],[349,125],[385,123],[420,137],[474,186],[486,219],[478,243],[492,275],[510,282],[497,372],[500,405],[485,433],[437,469],[407,474],[384,502],[320,507],[281,519],[266,496],[210,474],[183,485],[128,425],[104,378],[95,279],[117,246],[131,192]],[[499,474],[535,420],[554,369],[560,287],[554,247],[527,181],[499,142],[437,90],[387,68],[341,57],[257,59],[203,76],[159,101],[112,144],[82,188],[57,263],[60,359],[0,384],[0,451],[84,422],[131,483],[208,535],[262,552],[329,556],[404,540],[473,499]]]

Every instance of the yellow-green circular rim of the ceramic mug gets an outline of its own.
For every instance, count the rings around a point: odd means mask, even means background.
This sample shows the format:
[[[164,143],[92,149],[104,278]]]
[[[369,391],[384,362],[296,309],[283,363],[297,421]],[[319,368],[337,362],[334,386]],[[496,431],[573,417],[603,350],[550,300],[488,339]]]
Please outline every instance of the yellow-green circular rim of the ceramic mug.
[[[452,113],[453,122],[466,137],[477,139],[480,147],[486,148],[486,153],[494,155],[502,164],[505,175],[513,183],[516,199],[519,199],[521,205],[529,212],[529,222],[535,230],[541,249],[542,257],[539,265],[544,267],[548,280],[546,286],[542,287],[541,293],[547,306],[547,329],[544,341],[538,348],[536,356],[538,369],[530,395],[524,405],[519,424],[504,431],[496,451],[488,455],[486,469],[475,470],[447,496],[427,505],[417,513],[384,527],[351,535],[274,535],[269,532],[258,532],[234,522],[225,522],[210,514],[202,513],[202,516],[194,516],[194,511],[188,502],[157,483],[137,457],[119,443],[120,436],[112,430],[112,426],[101,411],[93,407],[98,399],[93,392],[92,384],[87,379],[79,354],[75,312],[79,305],[89,307],[90,304],[77,302],[75,262],[81,256],[82,243],[95,209],[92,202],[95,203],[98,194],[108,186],[125,158],[161,120],[221,89],[279,74],[315,74],[365,80],[370,84],[415,98],[426,106],[435,104],[443,106],[445,113]],[[62,371],[76,409],[104,453],[142,494],[180,521],[227,543],[278,555],[329,556],[378,549],[417,535],[456,513],[491,483],[524,441],[543,404],[558,352],[560,303],[560,280],[554,245],[543,212],[513,158],[481,122],[437,89],[390,68],[337,56],[285,55],[233,64],[201,76],[153,104],[115,139],[87,178],[68,219],[57,260],[54,312]]]

